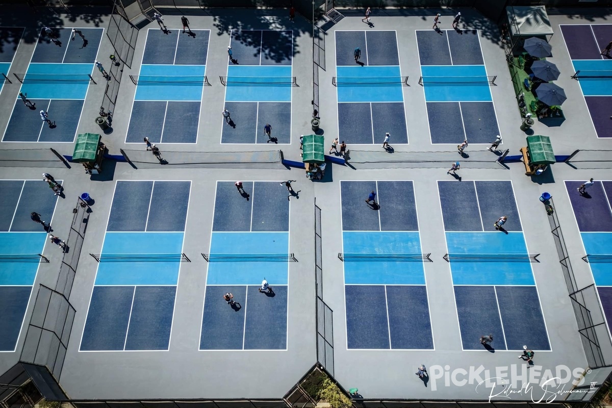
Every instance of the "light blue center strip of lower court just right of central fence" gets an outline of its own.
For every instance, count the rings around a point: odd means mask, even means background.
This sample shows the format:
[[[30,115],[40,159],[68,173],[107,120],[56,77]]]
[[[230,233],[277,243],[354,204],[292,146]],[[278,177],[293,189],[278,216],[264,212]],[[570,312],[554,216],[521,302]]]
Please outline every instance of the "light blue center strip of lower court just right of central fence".
[[[345,254],[421,254],[419,232],[342,233]],[[345,258],[345,284],[425,284],[423,262]]]

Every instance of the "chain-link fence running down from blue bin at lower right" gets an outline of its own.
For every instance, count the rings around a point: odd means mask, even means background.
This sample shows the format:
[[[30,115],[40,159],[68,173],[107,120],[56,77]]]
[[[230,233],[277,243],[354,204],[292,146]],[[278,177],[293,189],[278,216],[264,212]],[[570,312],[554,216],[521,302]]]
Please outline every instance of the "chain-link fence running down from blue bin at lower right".
[[[567,253],[561,224],[559,224],[559,218],[554,211],[552,198],[548,205],[552,208],[552,213],[548,214],[548,223],[550,223],[551,232],[554,236],[559,263],[565,278],[565,286],[567,286],[567,292],[572,299],[572,307],[578,323],[578,333],[580,333],[586,360],[592,369],[612,365],[612,341],[610,340],[608,325],[603,316],[602,305],[597,295],[597,287],[591,284],[579,289]]]

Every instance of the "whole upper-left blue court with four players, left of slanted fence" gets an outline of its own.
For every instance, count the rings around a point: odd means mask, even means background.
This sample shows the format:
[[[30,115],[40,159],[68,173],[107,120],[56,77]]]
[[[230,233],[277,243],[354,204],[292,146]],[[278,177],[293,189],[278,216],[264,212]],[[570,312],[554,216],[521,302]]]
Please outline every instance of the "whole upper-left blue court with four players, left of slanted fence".
[[[72,143],[83,110],[83,103],[90,86],[105,86],[106,81],[94,62],[102,40],[102,28],[75,28],[79,35],[72,38],[72,27],[53,28],[59,44],[53,43],[41,31],[23,78],[20,92],[35,105],[24,106],[19,92],[2,141],[5,142],[65,142]],[[89,78],[92,76],[95,85]],[[54,126],[40,119],[40,110],[45,110]]]

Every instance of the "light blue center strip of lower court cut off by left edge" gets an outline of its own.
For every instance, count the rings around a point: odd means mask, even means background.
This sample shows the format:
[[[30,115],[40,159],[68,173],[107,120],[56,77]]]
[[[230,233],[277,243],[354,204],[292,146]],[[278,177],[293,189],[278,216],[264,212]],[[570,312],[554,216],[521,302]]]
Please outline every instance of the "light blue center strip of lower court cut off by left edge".
[[[47,232],[0,232],[0,254],[40,254]],[[0,285],[32,285],[39,262],[2,262]]]

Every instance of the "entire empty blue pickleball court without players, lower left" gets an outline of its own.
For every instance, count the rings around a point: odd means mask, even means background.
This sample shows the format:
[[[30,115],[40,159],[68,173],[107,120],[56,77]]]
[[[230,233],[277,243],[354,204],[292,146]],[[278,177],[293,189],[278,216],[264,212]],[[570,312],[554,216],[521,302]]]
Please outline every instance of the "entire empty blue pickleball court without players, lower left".
[[[81,351],[168,349],[181,261],[155,256],[182,253],[190,188],[189,181],[117,182]]]

